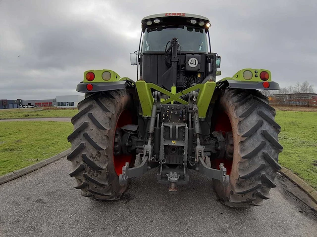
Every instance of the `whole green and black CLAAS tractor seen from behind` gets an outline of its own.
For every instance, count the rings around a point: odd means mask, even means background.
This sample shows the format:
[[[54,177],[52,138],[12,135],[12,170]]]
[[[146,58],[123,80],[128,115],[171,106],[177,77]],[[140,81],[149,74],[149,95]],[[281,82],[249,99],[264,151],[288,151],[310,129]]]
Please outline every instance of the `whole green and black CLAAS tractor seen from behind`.
[[[280,169],[280,126],[260,90],[279,89],[264,69],[221,75],[203,16],[164,13],[142,19],[139,50],[130,54],[137,80],[89,70],[72,118],[70,176],[82,195],[117,200],[131,178],[156,169],[175,193],[189,169],[212,179],[228,206],[261,205]]]

